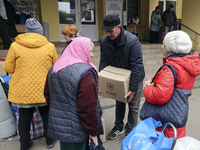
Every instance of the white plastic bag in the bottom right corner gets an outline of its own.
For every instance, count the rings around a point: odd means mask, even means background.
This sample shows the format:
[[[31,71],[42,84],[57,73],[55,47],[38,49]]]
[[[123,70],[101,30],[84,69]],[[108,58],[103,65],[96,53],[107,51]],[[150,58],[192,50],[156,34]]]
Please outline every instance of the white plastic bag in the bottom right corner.
[[[177,139],[174,150],[200,150],[200,141],[190,136]]]

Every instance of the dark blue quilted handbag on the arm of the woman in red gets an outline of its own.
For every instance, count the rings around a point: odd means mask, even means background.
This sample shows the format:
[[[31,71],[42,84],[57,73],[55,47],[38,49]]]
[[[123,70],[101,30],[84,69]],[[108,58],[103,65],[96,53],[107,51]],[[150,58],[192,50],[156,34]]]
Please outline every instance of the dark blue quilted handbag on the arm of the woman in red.
[[[175,88],[177,75],[174,67],[169,64],[164,64],[163,66],[168,66],[173,72],[174,92],[170,100],[163,105],[154,105],[145,100],[140,111],[140,119],[144,120],[152,117],[155,120],[160,121],[162,124],[170,122],[176,128],[181,128],[187,123],[189,110],[188,96],[191,96],[192,92],[190,90]],[[163,66],[160,67],[157,73],[162,69]],[[154,82],[156,75],[154,76],[152,82]]]

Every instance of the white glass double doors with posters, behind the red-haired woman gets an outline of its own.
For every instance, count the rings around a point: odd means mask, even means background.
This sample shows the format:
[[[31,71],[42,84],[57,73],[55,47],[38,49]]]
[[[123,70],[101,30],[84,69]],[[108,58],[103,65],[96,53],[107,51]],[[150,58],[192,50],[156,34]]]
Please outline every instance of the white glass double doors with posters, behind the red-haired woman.
[[[59,29],[74,24],[78,31],[92,41],[98,41],[97,0],[58,0]],[[60,32],[60,41],[65,39]]]

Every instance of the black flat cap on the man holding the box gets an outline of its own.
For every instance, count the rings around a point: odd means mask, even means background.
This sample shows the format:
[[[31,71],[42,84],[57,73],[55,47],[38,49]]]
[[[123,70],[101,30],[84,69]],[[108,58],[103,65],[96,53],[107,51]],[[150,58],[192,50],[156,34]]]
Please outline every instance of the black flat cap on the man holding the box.
[[[103,31],[110,31],[112,28],[120,24],[120,19],[116,15],[107,15],[103,19],[103,26],[101,30]]]

